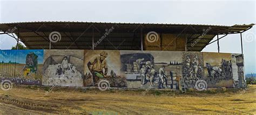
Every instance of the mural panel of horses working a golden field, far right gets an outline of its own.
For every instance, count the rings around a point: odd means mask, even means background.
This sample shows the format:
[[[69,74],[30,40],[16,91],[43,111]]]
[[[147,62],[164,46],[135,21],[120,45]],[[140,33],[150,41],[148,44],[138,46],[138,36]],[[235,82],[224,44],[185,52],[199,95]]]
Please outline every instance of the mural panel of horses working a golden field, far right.
[[[203,52],[203,57],[208,87],[233,87],[231,54]]]

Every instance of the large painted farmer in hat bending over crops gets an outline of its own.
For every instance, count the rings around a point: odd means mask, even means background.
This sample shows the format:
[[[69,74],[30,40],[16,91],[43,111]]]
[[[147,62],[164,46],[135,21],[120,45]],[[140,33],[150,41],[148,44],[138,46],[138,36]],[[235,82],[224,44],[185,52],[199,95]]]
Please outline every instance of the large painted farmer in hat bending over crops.
[[[92,59],[87,63],[87,66],[92,73],[93,83],[96,85],[100,78],[106,77],[107,75],[107,53],[105,51],[100,53],[100,56]]]

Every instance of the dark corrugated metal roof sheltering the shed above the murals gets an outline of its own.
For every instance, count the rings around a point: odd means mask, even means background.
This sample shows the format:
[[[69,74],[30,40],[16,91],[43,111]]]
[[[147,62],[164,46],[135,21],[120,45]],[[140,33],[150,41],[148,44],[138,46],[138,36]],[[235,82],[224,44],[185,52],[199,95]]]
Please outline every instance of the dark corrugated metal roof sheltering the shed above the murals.
[[[2,23],[0,31],[6,33],[19,32],[19,38],[30,49],[48,49],[48,36],[52,31],[58,31],[62,40],[52,43],[52,49],[91,49],[92,31],[94,40],[103,36],[106,29],[114,27],[111,36],[108,36],[96,49],[137,50],[140,46],[140,29],[143,34],[150,31],[158,33],[184,34],[187,39],[189,51],[201,51],[214,38],[215,35],[226,35],[244,32],[252,28],[248,25],[200,25],[200,24],[159,24],[159,23],[104,23],[104,22],[17,22]],[[16,29],[17,28],[17,29]],[[206,29],[210,31],[205,32]],[[14,31],[10,31],[14,30]],[[203,33],[203,38],[198,39]],[[77,39],[78,38],[78,39]],[[196,43],[195,41],[198,40]]]

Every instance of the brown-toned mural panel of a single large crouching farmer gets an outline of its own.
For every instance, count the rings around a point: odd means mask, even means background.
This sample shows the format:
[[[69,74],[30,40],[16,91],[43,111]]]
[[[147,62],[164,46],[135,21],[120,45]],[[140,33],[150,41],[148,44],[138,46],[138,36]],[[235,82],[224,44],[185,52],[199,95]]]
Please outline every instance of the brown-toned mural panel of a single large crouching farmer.
[[[97,86],[102,79],[111,87],[126,87],[126,79],[120,71],[120,52],[114,50],[84,51],[84,86]]]

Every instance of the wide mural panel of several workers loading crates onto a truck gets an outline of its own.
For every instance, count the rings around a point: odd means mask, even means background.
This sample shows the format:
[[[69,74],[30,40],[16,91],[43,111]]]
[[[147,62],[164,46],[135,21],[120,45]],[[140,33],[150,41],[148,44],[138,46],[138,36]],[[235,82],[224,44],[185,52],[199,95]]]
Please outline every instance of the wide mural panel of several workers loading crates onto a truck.
[[[178,89],[182,52],[120,51],[127,87]]]

